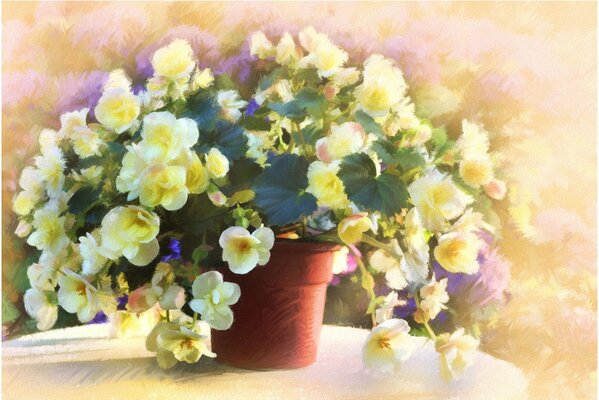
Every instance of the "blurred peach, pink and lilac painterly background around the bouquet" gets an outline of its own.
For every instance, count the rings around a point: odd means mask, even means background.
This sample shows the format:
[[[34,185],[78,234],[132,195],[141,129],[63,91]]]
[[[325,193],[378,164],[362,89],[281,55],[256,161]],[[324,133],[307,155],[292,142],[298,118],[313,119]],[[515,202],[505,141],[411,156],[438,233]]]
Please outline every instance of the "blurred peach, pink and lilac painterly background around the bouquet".
[[[4,338],[33,327],[21,300],[32,260],[11,204],[38,132],[93,105],[114,68],[143,83],[153,51],[174,38],[202,66],[243,81],[248,33],[313,25],[351,61],[395,59],[436,125],[454,135],[464,118],[485,125],[508,182],[496,212],[512,267],[483,349],[522,368],[533,399],[595,398],[595,3],[3,2],[2,11]],[[350,311],[358,291],[329,290],[328,323],[361,324]]]

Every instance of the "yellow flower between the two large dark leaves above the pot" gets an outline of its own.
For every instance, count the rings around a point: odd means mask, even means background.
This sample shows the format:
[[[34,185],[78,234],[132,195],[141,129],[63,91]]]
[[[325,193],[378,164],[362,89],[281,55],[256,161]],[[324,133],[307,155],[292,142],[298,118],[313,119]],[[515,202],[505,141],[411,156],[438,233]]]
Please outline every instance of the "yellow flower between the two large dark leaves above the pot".
[[[333,161],[329,164],[314,161],[308,168],[306,192],[312,193],[321,207],[345,208],[349,206],[345,187],[337,176],[339,166],[339,161]]]

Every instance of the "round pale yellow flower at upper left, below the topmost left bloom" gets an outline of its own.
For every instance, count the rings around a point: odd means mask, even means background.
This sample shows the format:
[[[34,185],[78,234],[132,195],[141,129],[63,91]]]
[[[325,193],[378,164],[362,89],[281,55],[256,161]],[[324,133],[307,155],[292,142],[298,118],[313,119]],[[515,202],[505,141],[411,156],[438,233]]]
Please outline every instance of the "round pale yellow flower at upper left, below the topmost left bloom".
[[[94,111],[102,125],[122,133],[136,122],[140,106],[139,99],[129,90],[114,87],[104,90]]]

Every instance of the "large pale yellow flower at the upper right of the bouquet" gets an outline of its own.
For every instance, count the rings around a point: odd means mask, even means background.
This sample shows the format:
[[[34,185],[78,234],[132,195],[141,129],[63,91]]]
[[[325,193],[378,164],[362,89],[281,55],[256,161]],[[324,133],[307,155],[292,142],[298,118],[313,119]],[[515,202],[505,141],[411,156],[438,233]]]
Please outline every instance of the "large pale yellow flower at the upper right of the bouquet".
[[[364,80],[356,88],[360,108],[373,118],[386,116],[405,96],[407,85],[399,68],[380,54],[364,62]]]

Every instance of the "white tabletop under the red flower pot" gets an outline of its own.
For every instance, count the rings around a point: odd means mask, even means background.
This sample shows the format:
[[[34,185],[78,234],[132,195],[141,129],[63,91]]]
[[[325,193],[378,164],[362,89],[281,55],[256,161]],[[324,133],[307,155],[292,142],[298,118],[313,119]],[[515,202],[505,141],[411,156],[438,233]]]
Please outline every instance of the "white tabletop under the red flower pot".
[[[202,358],[162,371],[144,338],[109,339],[108,326],[49,331],[2,345],[5,400],[109,399],[485,399],[526,398],[526,380],[511,364],[479,353],[462,380],[445,383],[430,342],[399,373],[362,368],[363,329],[325,326],[315,364],[257,372]]]

